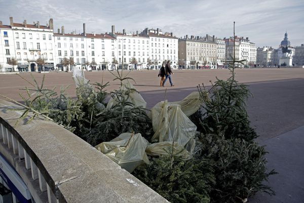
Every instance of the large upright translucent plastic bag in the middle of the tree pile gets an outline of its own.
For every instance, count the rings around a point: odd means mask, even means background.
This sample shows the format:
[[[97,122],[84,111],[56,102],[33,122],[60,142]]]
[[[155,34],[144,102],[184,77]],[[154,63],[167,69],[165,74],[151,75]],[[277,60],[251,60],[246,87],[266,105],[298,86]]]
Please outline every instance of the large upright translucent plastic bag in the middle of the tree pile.
[[[167,100],[151,109],[152,124],[155,142],[176,142],[181,147],[194,149],[194,146],[186,146],[195,137],[196,125],[181,111],[180,105],[169,104]]]

